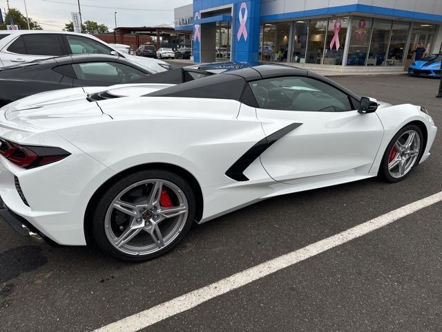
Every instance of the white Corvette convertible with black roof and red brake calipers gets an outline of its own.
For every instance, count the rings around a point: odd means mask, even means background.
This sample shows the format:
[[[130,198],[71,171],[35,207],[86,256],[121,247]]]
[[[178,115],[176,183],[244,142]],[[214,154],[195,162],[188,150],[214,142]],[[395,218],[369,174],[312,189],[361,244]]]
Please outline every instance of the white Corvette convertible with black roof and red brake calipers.
[[[8,223],[127,261],[171,250],[193,221],[272,196],[400,181],[436,135],[423,107],[361,98],[277,65],[174,86],[41,93],[0,118]]]

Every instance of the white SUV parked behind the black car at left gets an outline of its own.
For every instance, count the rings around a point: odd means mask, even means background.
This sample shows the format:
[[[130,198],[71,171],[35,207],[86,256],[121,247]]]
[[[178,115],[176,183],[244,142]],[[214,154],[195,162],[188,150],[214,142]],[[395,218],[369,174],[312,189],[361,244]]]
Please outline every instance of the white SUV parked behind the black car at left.
[[[118,55],[155,73],[171,69],[164,61],[123,53],[92,35],[46,30],[0,31],[0,67],[58,55],[84,53]]]

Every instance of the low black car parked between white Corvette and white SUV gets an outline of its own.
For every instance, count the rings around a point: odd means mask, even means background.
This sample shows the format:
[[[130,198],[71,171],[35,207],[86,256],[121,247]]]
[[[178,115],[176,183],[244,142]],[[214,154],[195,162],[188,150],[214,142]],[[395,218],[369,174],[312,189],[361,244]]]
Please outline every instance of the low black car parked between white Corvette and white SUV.
[[[35,60],[0,68],[0,107],[44,91],[127,83],[180,84],[214,74],[211,66],[200,66],[152,75],[148,68],[113,55],[68,55]]]

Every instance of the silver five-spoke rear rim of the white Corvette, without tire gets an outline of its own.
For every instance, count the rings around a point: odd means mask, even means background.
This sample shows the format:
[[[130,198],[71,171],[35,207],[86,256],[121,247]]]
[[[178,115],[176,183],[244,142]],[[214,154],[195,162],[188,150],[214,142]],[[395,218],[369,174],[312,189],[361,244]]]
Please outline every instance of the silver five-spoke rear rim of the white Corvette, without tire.
[[[173,206],[160,199],[167,193]],[[140,181],[120,192],[106,212],[104,228],[109,242],[128,255],[148,255],[172,243],[186,225],[189,212],[184,192],[162,179]]]

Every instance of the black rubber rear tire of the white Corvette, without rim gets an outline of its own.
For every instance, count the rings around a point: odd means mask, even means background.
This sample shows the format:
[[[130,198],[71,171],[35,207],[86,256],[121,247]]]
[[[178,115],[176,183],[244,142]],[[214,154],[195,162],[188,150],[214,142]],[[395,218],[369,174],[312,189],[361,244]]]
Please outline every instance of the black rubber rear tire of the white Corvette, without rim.
[[[180,190],[182,190],[186,197],[188,205],[188,214],[185,225],[182,228],[180,234],[175,239],[173,239],[171,243],[167,244],[159,251],[147,255],[129,255],[115,248],[106,236],[106,212],[111,203],[113,203],[113,200],[125,188],[139,181],[145,181],[153,178],[169,181],[179,187]],[[138,171],[133,174],[124,176],[123,178],[120,178],[116,183],[111,185],[111,187],[109,187],[108,190],[106,190],[106,192],[102,195],[102,199],[100,199],[100,201],[97,203],[95,211],[93,213],[93,236],[99,248],[101,248],[104,252],[106,252],[108,255],[111,255],[115,259],[131,262],[147,261],[149,259],[164,255],[166,252],[169,252],[170,250],[175,248],[175,246],[177,246],[177,244],[186,236],[187,232],[189,232],[192,226],[195,217],[195,205],[195,195],[193,194],[193,190],[189,183],[187,183],[181,176],[162,169],[146,169]]]

